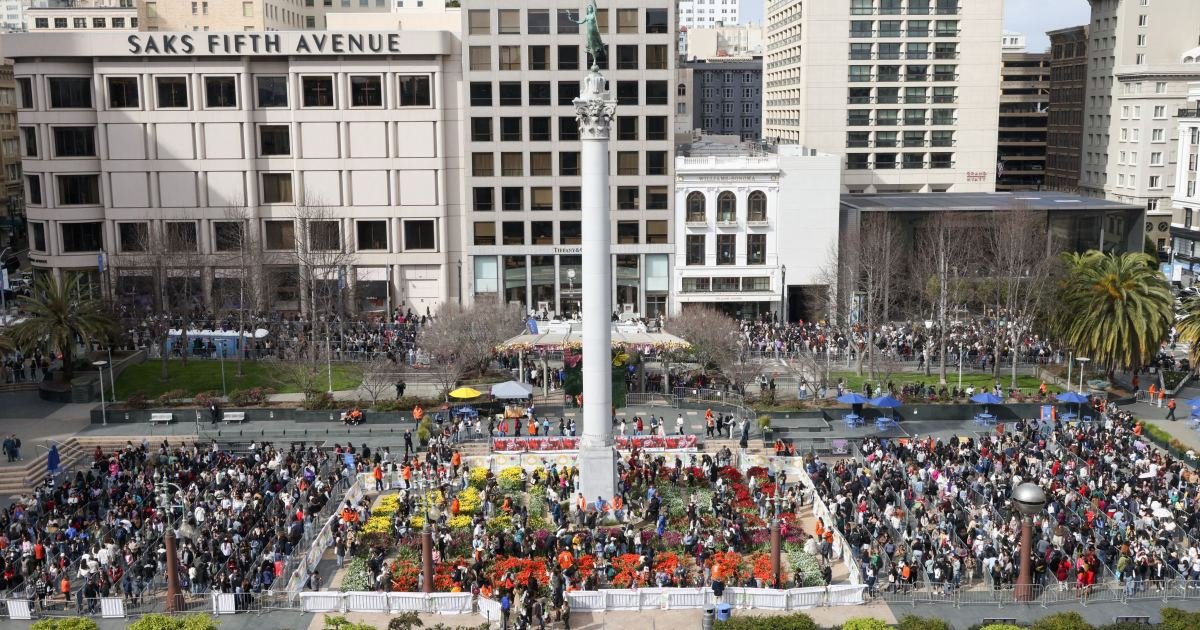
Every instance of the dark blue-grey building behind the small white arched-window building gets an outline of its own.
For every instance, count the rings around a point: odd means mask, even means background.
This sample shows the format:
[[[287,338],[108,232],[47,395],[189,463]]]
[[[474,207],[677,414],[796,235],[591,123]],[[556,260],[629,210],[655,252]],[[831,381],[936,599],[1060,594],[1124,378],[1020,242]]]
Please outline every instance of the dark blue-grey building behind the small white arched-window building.
[[[762,137],[761,58],[748,61],[691,61],[685,65],[692,73],[691,128],[712,134],[738,136],[743,140],[757,140]],[[676,96],[683,100],[683,95]]]

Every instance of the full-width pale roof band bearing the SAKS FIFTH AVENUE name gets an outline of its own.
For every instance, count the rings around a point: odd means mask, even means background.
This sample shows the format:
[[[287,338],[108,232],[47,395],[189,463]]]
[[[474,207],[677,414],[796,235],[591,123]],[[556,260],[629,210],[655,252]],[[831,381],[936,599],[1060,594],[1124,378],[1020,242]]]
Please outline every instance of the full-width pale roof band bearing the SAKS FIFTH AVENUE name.
[[[268,32],[18,32],[0,38],[0,55],[30,58],[170,59],[203,56],[449,55],[446,31]]]

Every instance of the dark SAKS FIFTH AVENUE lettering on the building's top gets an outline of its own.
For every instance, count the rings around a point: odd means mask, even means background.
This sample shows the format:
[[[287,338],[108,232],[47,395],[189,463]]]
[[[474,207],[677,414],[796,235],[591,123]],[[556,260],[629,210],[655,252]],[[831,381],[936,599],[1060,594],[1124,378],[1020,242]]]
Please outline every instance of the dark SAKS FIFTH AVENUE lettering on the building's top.
[[[284,42],[280,32],[137,34],[130,35],[134,55],[349,55],[401,54],[398,32],[301,32]]]

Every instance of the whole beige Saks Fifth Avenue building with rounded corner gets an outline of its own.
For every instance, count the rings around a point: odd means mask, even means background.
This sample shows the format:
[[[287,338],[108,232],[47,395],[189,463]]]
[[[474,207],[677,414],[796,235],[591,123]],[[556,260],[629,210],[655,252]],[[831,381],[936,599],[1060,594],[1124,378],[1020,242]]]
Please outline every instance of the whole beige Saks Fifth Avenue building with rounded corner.
[[[461,294],[444,31],[6,36],[35,272],[145,307]],[[101,274],[100,270],[103,269]]]

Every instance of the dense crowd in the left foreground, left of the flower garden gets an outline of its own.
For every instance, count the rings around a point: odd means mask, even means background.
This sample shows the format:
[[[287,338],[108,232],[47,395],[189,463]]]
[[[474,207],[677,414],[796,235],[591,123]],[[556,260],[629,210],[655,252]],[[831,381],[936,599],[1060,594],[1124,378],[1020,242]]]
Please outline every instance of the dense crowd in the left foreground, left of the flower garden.
[[[95,612],[101,596],[143,605],[166,584],[167,528],[185,592],[271,588],[340,484],[322,474],[328,457],[295,444],[97,448],[0,511],[0,588],[43,608]]]

